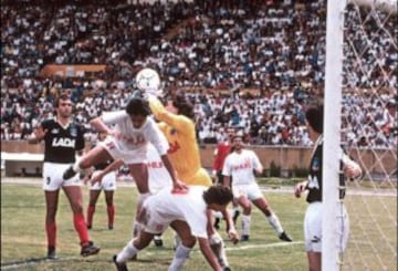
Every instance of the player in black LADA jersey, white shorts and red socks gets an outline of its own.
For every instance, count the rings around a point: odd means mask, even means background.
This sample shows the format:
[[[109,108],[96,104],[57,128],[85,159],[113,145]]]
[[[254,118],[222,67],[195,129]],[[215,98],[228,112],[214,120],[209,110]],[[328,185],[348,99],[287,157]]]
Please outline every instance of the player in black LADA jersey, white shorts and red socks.
[[[83,153],[84,131],[72,122],[72,102],[69,95],[56,98],[56,117],[43,121],[29,136],[30,144],[44,140],[43,190],[45,196],[45,231],[48,238],[48,258],[56,259],[56,209],[60,188],[70,201],[73,211],[73,222],[81,241],[81,254],[87,257],[100,252],[88,239],[88,231],[83,215],[82,181],[78,176],[64,180],[62,173],[75,161],[75,153]]]

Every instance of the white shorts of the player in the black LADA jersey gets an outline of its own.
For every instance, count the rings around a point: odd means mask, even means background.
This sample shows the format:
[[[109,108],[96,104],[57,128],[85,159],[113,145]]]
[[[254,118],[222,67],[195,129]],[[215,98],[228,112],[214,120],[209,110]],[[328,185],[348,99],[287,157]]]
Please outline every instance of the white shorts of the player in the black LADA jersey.
[[[44,161],[43,164],[43,190],[55,191],[64,186],[82,186],[83,181],[78,178],[78,174],[73,178],[64,180],[63,173],[70,164],[59,164]]]

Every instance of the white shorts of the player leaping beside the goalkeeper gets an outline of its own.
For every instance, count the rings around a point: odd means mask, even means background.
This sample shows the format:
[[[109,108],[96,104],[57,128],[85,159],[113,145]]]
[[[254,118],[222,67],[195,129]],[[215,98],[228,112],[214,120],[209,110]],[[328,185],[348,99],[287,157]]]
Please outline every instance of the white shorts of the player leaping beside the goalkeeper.
[[[143,146],[137,149],[122,149],[114,137],[107,137],[100,143],[108,152],[114,160],[123,159],[127,165],[146,163],[147,147]]]

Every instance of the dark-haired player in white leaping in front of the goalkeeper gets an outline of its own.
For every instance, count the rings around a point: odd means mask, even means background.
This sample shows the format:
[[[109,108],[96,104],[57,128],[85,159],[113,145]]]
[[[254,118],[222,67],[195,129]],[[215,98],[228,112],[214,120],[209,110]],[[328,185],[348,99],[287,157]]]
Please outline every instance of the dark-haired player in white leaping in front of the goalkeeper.
[[[174,189],[184,190],[185,185],[177,180],[175,169],[167,155],[169,147],[167,139],[149,115],[148,103],[134,97],[127,103],[125,111],[111,112],[92,119],[92,126],[100,133],[106,133],[108,137],[67,168],[63,178],[70,179],[82,169],[108,159],[122,159],[128,165],[139,194],[148,194],[146,155],[147,144],[150,142],[158,150],[171,176]]]

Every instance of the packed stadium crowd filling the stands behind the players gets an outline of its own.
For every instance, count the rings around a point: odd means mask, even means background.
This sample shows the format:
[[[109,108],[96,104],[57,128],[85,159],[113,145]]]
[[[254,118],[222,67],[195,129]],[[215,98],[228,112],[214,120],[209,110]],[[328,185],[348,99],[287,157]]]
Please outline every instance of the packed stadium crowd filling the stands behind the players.
[[[3,1],[1,139],[25,139],[53,114],[62,90],[71,92],[76,119],[92,137],[88,119],[123,107],[134,74],[154,66],[165,90],[196,90],[189,95],[201,143],[223,140],[234,126],[250,144],[308,145],[303,112],[323,94],[325,11],[324,1]],[[385,37],[397,37],[395,20],[380,32],[379,22],[356,14],[348,9],[346,37],[365,53],[360,62],[346,54],[343,139],[396,146],[397,96],[385,91],[398,86],[398,53]],[[107,67],[90,79],[40,76],[49,63]]]

